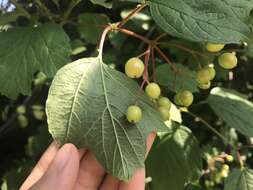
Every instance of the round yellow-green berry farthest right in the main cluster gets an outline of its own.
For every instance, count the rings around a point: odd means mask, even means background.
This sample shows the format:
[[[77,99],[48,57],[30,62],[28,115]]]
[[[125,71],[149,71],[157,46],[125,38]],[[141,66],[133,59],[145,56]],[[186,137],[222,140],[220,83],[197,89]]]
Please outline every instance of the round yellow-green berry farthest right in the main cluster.
[[[233,69],[237,66],[237,57],[234,53],[224,53],[219,57],[219,64],[224,69]]]

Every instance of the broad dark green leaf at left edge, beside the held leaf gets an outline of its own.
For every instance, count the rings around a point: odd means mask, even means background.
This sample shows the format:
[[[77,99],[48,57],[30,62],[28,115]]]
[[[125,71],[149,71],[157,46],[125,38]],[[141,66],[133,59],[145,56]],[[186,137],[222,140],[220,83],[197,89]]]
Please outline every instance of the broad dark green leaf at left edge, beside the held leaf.
[[[0,93],[13,99],[30,95],[34,73],[53,77],[70,53],[68,36],[55,24],[0,32]]]

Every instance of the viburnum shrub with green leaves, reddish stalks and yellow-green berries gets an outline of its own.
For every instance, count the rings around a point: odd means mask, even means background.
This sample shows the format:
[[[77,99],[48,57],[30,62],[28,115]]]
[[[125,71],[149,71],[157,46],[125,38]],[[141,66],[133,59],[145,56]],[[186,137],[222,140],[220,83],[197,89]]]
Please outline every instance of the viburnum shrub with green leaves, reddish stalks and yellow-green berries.
[[[34,118],[120,180],[145,167],[149,190],[251,190],[252,9],[252,0],[11,0],[0,18],[0,132]]]

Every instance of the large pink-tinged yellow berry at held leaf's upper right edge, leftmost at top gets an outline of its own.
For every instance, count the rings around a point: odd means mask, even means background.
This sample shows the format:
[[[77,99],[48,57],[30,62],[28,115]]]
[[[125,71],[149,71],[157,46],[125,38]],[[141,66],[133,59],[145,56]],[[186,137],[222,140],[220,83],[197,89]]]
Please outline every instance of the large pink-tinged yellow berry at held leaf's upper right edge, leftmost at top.
[[[125,64],[125,73],[130,78],[140,78],[144,72],[144,64],[138,57],[133,57]]]

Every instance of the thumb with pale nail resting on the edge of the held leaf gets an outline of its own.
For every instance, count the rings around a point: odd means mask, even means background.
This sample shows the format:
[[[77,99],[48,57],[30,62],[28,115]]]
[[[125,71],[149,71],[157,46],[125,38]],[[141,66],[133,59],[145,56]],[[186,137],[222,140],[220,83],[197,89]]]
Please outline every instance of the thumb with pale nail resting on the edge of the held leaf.
[[[65,144],[56,154],[42,178],[30,190],[72,190],[79,170],[79,154],[72,144]]]

